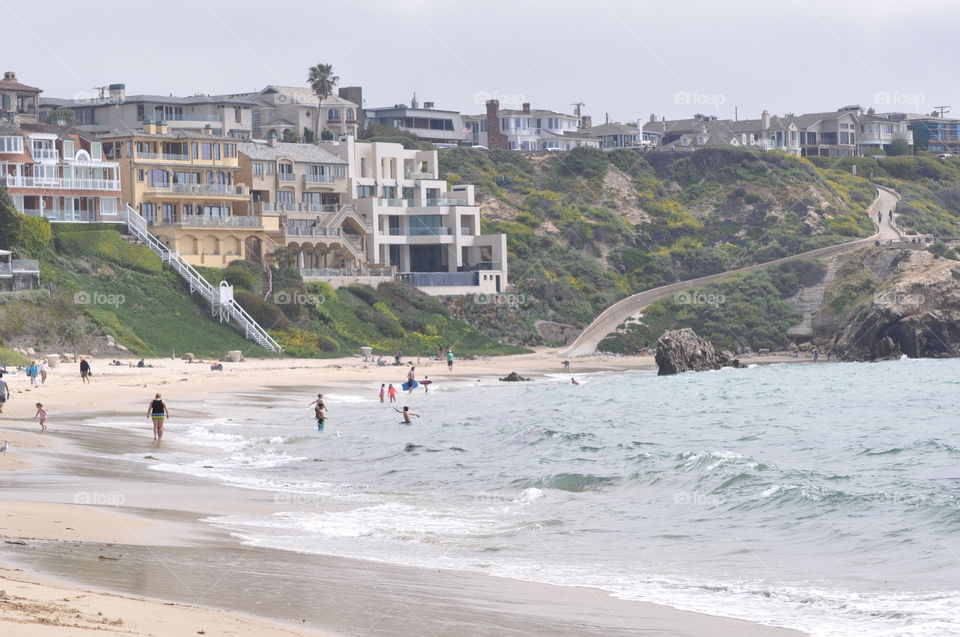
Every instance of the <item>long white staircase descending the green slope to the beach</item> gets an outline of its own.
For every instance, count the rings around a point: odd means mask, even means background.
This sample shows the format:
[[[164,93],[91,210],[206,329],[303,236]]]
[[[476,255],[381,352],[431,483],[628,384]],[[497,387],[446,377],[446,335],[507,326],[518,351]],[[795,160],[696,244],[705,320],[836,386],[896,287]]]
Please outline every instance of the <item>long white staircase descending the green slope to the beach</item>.
[[[186,262],[180,256],[180,253],[171,250],[163,245],[150,232],[147,226],[147,220],[140,216],[136,210],[127,205],[125,212],[127,220],[127,230],[130,234],[143,241],[151,250],[160,255],[160,260],[169,265],[179,274],[190,286],[190,293],[199,292],[200,296],[206,299],[210,304],[210,311],[214,316],[219,316],[220,322],[233,321],[241,329],[244,336],[257,345],[268,349],[277,354],[283,353],[283,348],[270,336],[259,323],[253,320],[246,310],[239,303],[233,300],[233,288],[231,286],[214,287],[203,278],[203,275],[197,272],[196,268]]]

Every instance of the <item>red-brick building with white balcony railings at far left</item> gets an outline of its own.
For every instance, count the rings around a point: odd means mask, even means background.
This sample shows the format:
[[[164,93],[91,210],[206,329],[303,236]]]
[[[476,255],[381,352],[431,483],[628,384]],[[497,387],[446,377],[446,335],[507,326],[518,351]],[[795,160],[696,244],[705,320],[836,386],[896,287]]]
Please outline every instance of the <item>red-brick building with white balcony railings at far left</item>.
[[[0,121],[0,186],[22,214],[54,222],[121,222],[119,164],[96,140]]]

